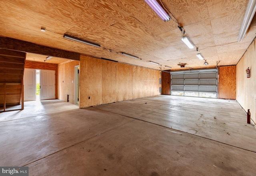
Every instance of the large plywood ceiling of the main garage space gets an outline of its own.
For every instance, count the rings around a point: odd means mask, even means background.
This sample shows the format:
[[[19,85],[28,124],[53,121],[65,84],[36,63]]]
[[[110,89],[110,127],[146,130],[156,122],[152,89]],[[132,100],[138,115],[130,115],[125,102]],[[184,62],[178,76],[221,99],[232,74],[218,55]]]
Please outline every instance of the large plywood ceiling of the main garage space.
[[[252,22],[244,40],[237,42],[248,0],[161,1],[209,66],[216,66],[217,61],[237,64],[255,37],[256,23]],[[8,0],[1,2],[0,15],[4,37],[148,68],[160,69],[149,60],[160,63],[162,70],[168,69],[164,66],[178,69],[180,62],[190,68],[205,67],[196,57],[196,48],[190,50],[181,41],[177,23],[162,21],[144,0]],[[102,47],[65,39],[63,34]]]

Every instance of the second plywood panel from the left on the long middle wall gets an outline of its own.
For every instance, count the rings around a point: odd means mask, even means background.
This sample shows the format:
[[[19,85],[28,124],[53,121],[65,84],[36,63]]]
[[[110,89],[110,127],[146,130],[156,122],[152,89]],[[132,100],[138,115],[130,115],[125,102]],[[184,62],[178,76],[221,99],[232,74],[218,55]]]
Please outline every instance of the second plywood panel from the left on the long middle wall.
[[[102,60],[102,104],[116,102],[116,64]]]

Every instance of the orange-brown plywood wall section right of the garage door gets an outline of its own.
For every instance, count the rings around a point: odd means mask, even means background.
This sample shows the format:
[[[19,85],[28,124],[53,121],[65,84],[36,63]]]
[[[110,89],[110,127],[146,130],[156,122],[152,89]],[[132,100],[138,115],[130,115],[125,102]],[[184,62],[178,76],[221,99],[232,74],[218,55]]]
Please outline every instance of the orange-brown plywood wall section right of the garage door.
[[[224,99],[236,99],[236,66],[220,66],[219,74],[219,97]]]

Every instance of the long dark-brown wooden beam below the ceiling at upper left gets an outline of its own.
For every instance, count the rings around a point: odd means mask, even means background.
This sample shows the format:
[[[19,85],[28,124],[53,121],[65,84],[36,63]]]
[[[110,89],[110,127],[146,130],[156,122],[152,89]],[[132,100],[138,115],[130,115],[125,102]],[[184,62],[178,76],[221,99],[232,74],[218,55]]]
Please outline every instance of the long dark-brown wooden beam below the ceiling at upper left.
[[[47,46],[42,46],[42,45],[38,45],[38,44],[34,44],[34,43],[22,41],[22,40],[17,40],[14,38],[0,37],[0,48],[23,51],[23,52],[31,52],[35,54],[43,54],[46,56],[54,56],[59,58],[67,58],[72,60],[80,60],[80,54],[76,52],[50,48]]]

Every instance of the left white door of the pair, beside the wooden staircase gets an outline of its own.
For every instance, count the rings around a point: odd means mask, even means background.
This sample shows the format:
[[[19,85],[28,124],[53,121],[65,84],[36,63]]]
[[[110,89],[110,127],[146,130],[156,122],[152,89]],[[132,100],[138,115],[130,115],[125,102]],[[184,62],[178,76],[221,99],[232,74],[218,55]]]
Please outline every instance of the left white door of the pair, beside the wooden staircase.
[[[36,69],[24,69],[24,101],[36,100]]]

